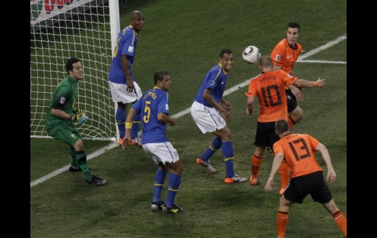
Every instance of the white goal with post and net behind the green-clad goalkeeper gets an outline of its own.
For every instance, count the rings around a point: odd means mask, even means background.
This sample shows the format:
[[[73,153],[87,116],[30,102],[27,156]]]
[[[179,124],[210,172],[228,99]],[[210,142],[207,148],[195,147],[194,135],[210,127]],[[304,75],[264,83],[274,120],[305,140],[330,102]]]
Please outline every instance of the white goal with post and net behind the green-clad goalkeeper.
[[[86,139],[117,139],[108,72],[119,30],[118,0],[30,0],[30,137],[48,137],[53,90],[67,76],[68,58],[77,57],[84,80],[76,106],[90,120],[76,128]]]

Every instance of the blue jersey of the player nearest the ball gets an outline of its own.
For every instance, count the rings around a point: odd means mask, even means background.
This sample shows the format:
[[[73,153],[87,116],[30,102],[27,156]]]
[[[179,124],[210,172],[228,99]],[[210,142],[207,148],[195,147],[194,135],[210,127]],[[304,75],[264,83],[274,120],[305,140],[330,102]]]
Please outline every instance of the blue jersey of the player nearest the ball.
[[[195,96],[195,101],[205,106],[212,107],[203,97],[203,92],[207,88],[211,90],[212,98],[216,103],[220,103],[227,84],[227,73],[224,71],[222,65],[219,63],[214,66],[206,75],[198,93]]]

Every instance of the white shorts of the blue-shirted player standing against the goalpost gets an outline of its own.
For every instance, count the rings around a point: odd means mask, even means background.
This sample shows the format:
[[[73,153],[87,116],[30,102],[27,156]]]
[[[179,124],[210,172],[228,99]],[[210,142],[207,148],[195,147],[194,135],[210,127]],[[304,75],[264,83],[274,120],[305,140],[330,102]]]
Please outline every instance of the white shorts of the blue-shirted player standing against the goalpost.
[[[111,97],[114,103],[122,102],[123,104],[133,103],[142,96],[141,88],[137,82],[134,82],[136,93],[127,92],[127,84],[119,84],[109,81]]]

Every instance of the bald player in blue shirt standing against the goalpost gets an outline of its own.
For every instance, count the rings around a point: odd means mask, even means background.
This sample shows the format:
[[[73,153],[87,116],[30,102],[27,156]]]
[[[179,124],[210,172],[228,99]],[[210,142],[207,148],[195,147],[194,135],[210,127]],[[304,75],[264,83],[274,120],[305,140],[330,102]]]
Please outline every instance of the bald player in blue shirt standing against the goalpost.
[[[140,11],[131,13],[130,26],[125,27],[118,34],[118,40],[113,52],[109,73],[109,86],[113,101],[118,104],[116,120],[119,130],[119,145],[122,144],[125,134],[126,108],[128,103],[135,103],[142,95],[141,88],[135,81],[132,73],[138,33],[144,28],[144,16]],[[140,113],[133,119],[132,141],[130,144],[139,143],[138,131],[141,122]]]

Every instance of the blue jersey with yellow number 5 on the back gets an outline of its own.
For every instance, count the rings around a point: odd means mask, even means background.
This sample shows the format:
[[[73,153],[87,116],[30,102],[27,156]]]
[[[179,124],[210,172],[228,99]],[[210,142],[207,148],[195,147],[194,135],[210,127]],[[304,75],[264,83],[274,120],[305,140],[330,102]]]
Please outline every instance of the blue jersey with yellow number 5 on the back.
[[[164,90],[154,87],[146,91],[132,106],[141,112],[142,144],[166,142],[166,125],[157,119],[161,112],[169,114],[169,95]]]

